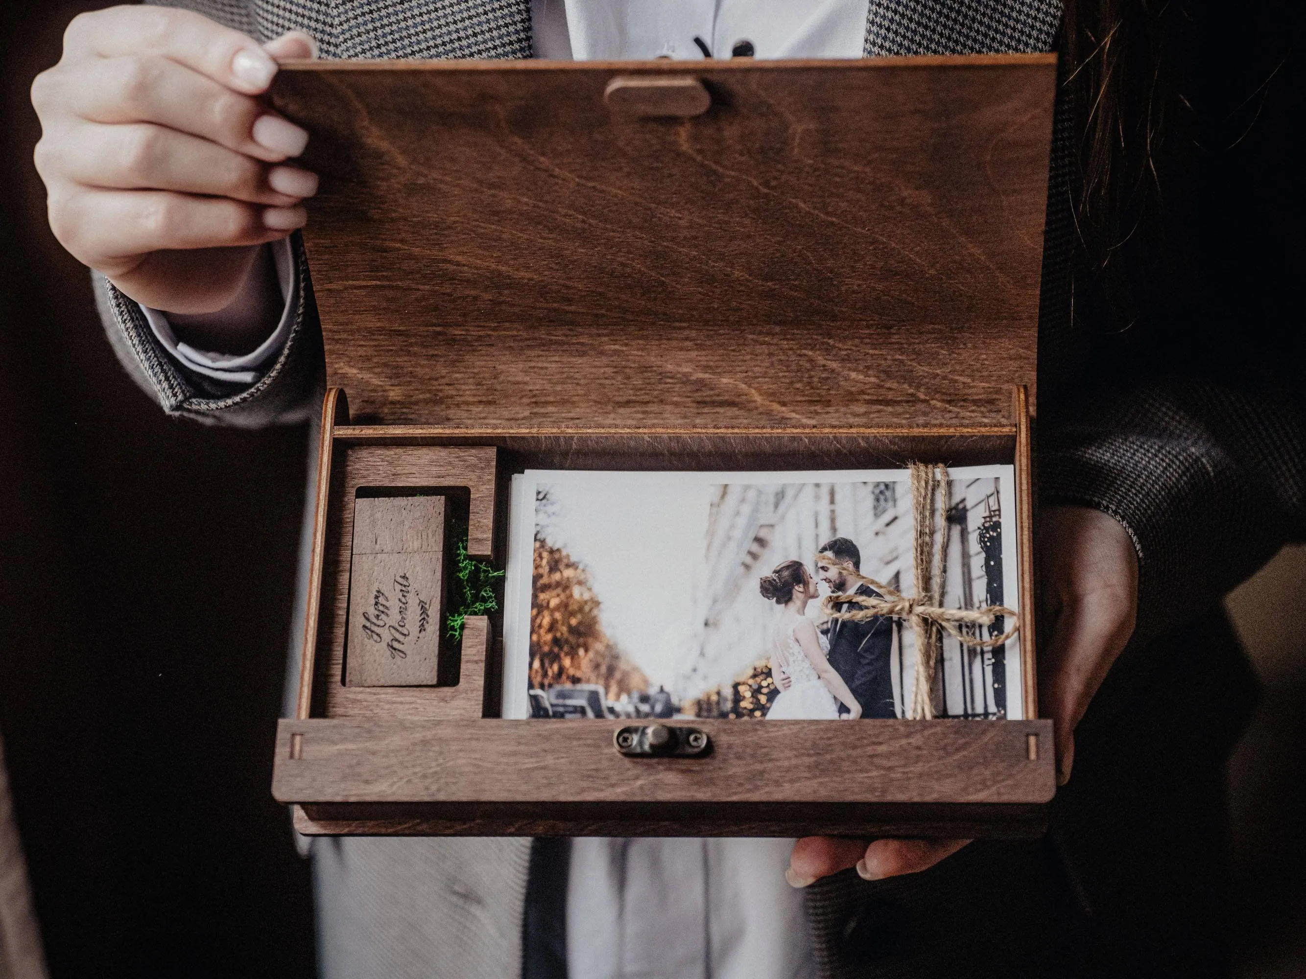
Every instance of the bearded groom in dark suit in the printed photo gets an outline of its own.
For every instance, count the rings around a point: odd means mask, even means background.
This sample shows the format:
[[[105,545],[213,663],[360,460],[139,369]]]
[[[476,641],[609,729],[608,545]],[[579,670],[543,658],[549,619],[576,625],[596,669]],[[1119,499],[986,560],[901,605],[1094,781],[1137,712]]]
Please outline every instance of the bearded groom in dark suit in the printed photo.
[[[882,598],[870,585],[849,578],[842,565],[862,569],[862,552],[846,536],[837,536],[821,546],[819,553],[835,561],[816,560],[816,574],[838,595],[849,593]],[[854,589],[853,585],[857,585]],[[837,611],[857,611],[861,606],[842,602]],[[889,651],[893,646],[893,621],[875,616],[866,621],[833,619],[829,625],[829,664],[844,677],[844,683],[862,705],[863,718],[895,718],[893,677],[889,674]],[[842,704],[840,714],[846,713]]]

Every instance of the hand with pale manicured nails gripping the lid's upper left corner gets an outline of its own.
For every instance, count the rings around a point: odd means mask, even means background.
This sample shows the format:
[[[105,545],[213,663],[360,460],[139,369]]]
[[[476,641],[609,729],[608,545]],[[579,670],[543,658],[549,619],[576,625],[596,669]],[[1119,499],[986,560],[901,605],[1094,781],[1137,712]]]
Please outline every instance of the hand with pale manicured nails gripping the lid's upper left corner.
[[[306,34],[260,47],[166,7],[76,17],[59,64],[31,86],[55,236],[145,305],[227,307],[260,247],[300,227],[316,192],[313,174],[285,162],[308,133],[259,101],[276,59],[313,52]]]

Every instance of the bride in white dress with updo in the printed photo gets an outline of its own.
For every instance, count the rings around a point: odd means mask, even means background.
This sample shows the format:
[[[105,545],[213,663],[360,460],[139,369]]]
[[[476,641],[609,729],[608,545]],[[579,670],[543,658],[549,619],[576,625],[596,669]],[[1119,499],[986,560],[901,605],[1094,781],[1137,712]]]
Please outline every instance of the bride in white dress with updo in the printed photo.
[[[816,598],[816,582],[807,567],[802,561],[785,561],[761,580],[760,589],[763,598],[784,606],[771,651],[771,675],[780,696],[767,719],[836,721],[840,701],[848,706],[850,719],[859,718],[862,705],[827,659],[829,644],[803,615],[807,603]]]

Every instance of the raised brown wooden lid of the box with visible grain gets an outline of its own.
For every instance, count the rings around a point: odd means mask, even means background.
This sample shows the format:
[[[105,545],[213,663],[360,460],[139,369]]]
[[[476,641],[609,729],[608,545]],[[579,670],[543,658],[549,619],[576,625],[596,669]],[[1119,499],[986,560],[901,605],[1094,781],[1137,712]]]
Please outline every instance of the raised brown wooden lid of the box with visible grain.
[[[662,86],[609,104],[619,76]],[[1053,55],[287,65],[328,384],[453,429],[1007,423],[1054,85]]]

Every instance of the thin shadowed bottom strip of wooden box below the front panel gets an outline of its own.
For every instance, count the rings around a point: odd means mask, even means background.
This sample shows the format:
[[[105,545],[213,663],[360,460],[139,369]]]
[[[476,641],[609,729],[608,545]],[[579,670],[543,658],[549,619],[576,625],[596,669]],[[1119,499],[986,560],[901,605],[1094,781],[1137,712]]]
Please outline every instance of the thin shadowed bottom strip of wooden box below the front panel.
[[[1015,803],[895,804],[682,803],[669,812],[639,803],[434,805],[294,805],[306,835],[400,837],[918,837],[1030,838],[1047,829],[1043,805]]]

